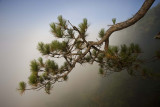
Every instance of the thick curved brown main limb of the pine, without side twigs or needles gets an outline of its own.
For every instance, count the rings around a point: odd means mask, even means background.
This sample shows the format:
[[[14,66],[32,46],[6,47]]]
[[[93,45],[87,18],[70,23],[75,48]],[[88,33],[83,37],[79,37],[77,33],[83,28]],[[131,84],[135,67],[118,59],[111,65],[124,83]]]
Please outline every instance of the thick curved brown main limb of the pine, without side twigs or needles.
[[[142,7],[140,8],[140,10],[130,19],[121,22],[121,23],[117,23],[113,26],[111,26],[107,31],[105,36],[98,42],[90,42],[89,46],[87,47],[87,49],[85,50],[85,52],[81,55],[78,56],[78,58],[74,61],[73,63],[73,67],[75,67],[77,61],[79,59],[81,59],[82,57],[84,57],[91,49],[92,46],[94,45],[101,45],[103,42],[107,42],[105,46],[105,49],[108,49],[108,43],[109,43],[109,37],[111,36],[111,34],[115,31],[118,30],[122,30],[124,28],[127,28],[133,24],[135,24],[137,21],[139,21],[142,17],[144,17],[144,15],[147,13],[147,11],[149,10],[149,8],[152,6],[152,4],[154,3],[155,0],[145,0],[145,2],[143,3]],[[71,68],[72,70],[73,68]],[[69,70],[66,75],[68,75],[71,70]]]

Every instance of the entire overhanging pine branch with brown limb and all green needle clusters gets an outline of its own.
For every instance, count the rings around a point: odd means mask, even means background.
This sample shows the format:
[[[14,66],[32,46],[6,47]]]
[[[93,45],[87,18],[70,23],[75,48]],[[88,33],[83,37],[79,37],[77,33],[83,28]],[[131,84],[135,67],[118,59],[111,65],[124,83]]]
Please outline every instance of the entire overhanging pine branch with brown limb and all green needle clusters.
[[[51,43],[39,42],[37,49],[44,56],[49,58],[44,61],[41,57],[30,63],[31,75],[29,76],[27,87],[25,82],[19,83],[18,90],[23,93],[25,90],[45,89],[50,93],[52,86],[56,82],[66,81],[68,74],[77,63],[84,64],[94,62],[99,63],[99,73],[103,76],[113,72],[126,70],[130,75],[151,76],[152,72],[142,69],[140,64],[144,61],[138,56],[141,49],[137,44],[131,43],[129,46],[121,45],[109,46],[109,37],[115,31],[125,29],[139,21],[149,10],[155,0],[145,0],[139,11],[130,19],[116,23],[116,18],[112,19],[113,25],[108,30],[101,29],[98,41],[87,41],[86,31],[89,27],[88,20],[85,18],[78,27],[62,16],[58,16],[57,23],[51,23],[51,32],[60,40],[53,40]],[[104,50],[102,46],[104,44]],[[65,62],[59,66],[53,58],[64,58]],[[160,52],[154,57],[160,58]]]

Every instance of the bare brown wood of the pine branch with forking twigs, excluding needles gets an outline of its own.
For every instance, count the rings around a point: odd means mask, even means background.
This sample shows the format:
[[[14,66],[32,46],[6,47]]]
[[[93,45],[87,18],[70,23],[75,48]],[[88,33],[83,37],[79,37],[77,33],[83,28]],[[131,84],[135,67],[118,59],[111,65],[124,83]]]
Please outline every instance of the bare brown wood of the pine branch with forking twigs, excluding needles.
[[[140,10],[132,18],[130,18],[130,19],[124,21],[124,22],[117,23],[117,24],[114,24],[113,26],[111,26],[106,31],[104,37],[101,40],[99,40],[98,42],[86,41],[85,38],[83,38],[82,35],[78,36],[77,38],[74,38],[75,41],[74,41],[72,47],[69,49],[70,53],[67,53],[67,54],[63,55],[63,57],[66,59],[67,63],[70,65],[70,67],[67,68],[67,69],[64,68],[63,69],[63,71],[64,71],[63,73],[56,72],[57,73],[55,75],[56,77],[52,77],[50,80],[47,80],[48,83],[49,82],[53,82],[51,84],[54,84],[57,81],[59,82],[59,80],[61,78],[66,77],[72,71],[72,69],[75,67],[75,65],[78,62],[80,62],[80,61],[82,61],[84,59],[85,55],[87,55],[90,52],[91,49],[94,49],[94,50],[98,51],[99,53],[107,51],[108,50],[108,46],[109,46],[109,37],[111,36],[111,34],[113,32],[115,32],[115,31],[119,31],[119,30],[122,30],[124,28],[127,28],[127,27],[135,24],[137,21],[139,21],[142,17],[144,17],[144,15],[147,13],[147,11],[149,10],[149,8],[152,6],[152,4],[154,3],[154,1],[155,0],[145,0],[145,2],[143,3],[142,7],[140,8]],[[71,24],[71,26],[73,27],[74,30],[79,31],[72,24]],[[83,42],[86,43],[87,47],[85,48],[85,50],[84,50],[83,53],[80,53],[80,54],[79,53],[72,53],[71,51],[74,48],[74,45],[76,44],[76,41],[78,40],[78,38],[82,38]],[[105,42],[105,51],[101,51],[100,49],[98,49],[96,47],[96,46],[102,45],[103,42]],[[94,45],[96,45],[96,46],[94,46]],[[50,54],[54,57],[55,55],[62,55],[63,53],[50,53]],[[89,53],[89,54],[90,54],[90,56],[92,56],[91,53]],[[68,61],[68,59],[67,59],[67,56],[76,56],[76,57],[74,58],[74,61],[72,63],[70,63]],[[96,58],[97,58],[97,56],[95,56],[95,58],[93,58],[93,61],[91,63],[93,63],[94,61],[96,61]],[[46,86],[46,84],[42,84],[42,85],[40,85],[40,86],[38,86],[36,88],[31,88],[31,89],[26,89],[26,90],[41,89],[41,88],[44,88]]]

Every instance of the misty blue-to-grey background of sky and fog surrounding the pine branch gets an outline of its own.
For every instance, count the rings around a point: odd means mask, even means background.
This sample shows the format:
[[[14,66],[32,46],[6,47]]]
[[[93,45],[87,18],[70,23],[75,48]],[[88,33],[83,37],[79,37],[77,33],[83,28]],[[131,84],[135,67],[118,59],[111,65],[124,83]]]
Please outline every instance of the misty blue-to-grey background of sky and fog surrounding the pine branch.
[[[160,81],[131,77],[126,72],[109,77],[98,74],[98,66],[77,65],[69,80],[57,83],[47,95],[44,90],[16,90],[20,81],[28,81],[30,61],[40,57],[38,42],[50,42],[49,24],[58,15],[78,25],[90,22],[88,40],[96,40],[101,28],[108,29],[112,18],[124,21],[135,14],[144,0],[0,0],[0,106],[1,107],[159,107]],[[154,36],[160,31],[160,3],[156,0],[147,15],[135,25],[112,34],[111,45],[138,43],[143,57],[160,49]],[[158,5],[157,5],[158,4]],[[156,7],[155,7],[156,6]],[[56,60],[58,63],[61,61]],[[159,72],[159,62],[147,65]]]

